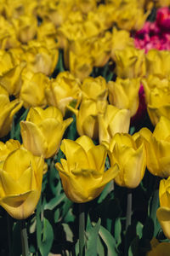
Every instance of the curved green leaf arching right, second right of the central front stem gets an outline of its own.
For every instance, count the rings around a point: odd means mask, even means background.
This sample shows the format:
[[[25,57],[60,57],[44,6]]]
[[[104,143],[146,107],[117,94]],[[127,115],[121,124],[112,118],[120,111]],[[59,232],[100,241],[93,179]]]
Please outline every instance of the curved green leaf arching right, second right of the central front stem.
[[[107,256],[116,256],[117,251],[116,251],[116,241],[111,236],[111,233],[108,230],[105,230],[103,226],[100,226],[99,228],[99,236],[101,239],[105,242],[105,246],[107,247]]]

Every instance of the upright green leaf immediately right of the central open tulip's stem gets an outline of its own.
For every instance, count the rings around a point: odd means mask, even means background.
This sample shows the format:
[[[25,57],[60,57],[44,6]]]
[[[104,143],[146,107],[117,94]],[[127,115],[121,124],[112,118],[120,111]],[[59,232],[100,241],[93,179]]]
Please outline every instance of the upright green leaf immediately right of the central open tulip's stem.
[[[101,219],[99,218],[97,224],[95,224],[95,226],[91,228],[87,233],[87,236],[88,236],[88,242],[87,242],[88,249],[86,250],[87,256],[91,256],[91,255],[97,256],[97,241],[98,241],[100,224],[101,224]]]

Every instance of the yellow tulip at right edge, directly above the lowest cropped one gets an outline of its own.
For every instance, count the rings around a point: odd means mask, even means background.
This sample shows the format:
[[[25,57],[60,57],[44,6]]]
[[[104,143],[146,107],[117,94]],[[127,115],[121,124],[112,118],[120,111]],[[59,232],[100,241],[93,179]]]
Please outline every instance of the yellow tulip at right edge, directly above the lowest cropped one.
[[[153,134],[147,128],[139,131],[146,148],[146,159],[148,170],[159,177],[170,176],[170,120],[161,117]]]

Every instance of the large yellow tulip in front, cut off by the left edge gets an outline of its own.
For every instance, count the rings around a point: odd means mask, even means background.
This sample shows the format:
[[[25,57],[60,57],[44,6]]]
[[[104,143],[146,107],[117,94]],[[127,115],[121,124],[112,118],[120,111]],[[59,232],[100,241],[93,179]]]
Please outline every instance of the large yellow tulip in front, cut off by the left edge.
[[[8,154],[0,163],[0,205],[13,218],[28,218],[35,210],[42,189],[42,157],[24,148]]]

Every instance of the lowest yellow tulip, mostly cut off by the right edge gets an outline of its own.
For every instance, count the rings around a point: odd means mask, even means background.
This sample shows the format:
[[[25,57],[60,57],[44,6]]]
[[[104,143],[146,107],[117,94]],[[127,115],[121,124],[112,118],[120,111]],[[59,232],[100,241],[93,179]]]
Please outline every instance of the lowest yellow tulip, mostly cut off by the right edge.
[[[159,187],[160,207],[156,211],[156,217],[161,224],[165,236],[170,239],[170,177],[162,179]]]

